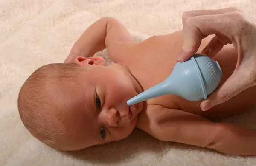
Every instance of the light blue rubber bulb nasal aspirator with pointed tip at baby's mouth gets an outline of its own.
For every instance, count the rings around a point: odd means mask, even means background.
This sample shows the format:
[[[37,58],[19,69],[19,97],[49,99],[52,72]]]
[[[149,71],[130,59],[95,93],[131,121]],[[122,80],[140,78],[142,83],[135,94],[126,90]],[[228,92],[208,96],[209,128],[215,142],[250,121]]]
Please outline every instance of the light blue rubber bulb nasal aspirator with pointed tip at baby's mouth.
[[[164,95],[177,95],[188,101],[201,101],[219,86],[222,71],[217,61],[195,54],[185,62],[177,62],[170,76],[160,84],[127,101],[128,105]]]

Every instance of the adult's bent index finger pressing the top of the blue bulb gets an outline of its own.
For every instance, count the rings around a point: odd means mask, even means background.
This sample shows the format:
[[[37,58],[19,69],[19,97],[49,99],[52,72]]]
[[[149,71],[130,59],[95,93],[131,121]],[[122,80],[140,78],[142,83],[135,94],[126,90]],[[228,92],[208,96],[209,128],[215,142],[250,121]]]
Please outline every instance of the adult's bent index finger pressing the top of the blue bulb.
[[[202,39],[207,35],[221,34],[231,40],[233,24],[230,13],[189,17],[184,23],[184,43],[177,61],[184,62],[191,58],[197,52]]]

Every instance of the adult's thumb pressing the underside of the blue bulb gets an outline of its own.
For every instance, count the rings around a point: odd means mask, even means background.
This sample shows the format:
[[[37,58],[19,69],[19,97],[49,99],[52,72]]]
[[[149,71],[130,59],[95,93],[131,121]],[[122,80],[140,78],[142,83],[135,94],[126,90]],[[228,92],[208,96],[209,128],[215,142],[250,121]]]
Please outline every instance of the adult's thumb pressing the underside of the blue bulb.
[[[253,84],[250,78],[250,71],[247,71],[244,66],[240,66],[221,87],[201,103],[201,110],[209,110],[215,105],[230,100],[230,98],[233,98],[243,90],[252,87]]]

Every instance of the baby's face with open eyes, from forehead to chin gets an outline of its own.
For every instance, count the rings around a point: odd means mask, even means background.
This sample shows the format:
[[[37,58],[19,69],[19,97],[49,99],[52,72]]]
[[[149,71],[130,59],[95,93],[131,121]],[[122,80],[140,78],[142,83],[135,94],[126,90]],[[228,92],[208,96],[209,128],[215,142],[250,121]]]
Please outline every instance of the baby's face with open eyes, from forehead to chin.
[[[140,86],[124,66],[84,68],[87,71],[72,92],[75,107],[66,114],[67,139],[77,150],[127,137],[143,107],[142,103],[126,104],[140,93]]]

